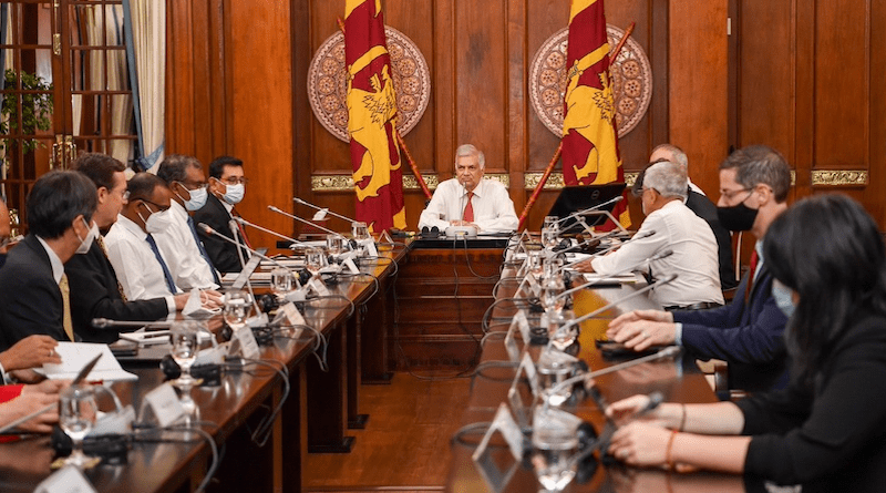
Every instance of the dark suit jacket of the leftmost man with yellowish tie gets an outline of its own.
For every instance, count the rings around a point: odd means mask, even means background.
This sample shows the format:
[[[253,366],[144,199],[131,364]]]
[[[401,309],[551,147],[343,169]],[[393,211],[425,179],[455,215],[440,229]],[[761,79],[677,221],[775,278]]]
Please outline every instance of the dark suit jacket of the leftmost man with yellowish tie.
[[[62,291],[43,245],[28,235],[0,269],[0,351],[34,333],[69,340],[62,322]]]

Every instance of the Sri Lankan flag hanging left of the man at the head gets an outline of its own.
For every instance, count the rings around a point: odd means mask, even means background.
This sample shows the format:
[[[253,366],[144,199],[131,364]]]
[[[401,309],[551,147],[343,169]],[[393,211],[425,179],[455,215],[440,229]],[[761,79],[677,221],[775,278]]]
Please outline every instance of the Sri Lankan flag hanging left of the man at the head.
[[[403,177],[394,135],[396,99],[381,0],[346,0],[344,61],[357,219],[377,233],[404,229]]]

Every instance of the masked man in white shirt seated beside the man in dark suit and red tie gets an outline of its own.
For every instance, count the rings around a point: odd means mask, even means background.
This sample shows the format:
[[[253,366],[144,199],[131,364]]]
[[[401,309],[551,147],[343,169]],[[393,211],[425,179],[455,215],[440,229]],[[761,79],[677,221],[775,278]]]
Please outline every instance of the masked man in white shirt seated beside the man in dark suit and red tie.
[[[169,261],[175,284],[182,289],[217,289],[222,283],[197,235],[188,212],[206,204],[206,175],[196,157],[171,154],[157,171],[173,193],[169,207],[171,227],[155,235],[157,246]]]

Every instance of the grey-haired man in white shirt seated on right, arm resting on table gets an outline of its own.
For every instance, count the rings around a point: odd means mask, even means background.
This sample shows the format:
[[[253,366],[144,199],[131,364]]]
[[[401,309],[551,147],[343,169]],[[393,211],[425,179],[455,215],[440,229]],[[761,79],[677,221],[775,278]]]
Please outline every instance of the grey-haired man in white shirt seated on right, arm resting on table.
[[[717,240],[711,228],[683,204],[686,172],[677,163],[661,162],[646,170],[640,197],[646,220],[637,232],[639,239],[612,254],[579,264],[583,271],[612,275],[664,250],[673,254],[649,263],[653,277],[672,283],[652,291],[651,299],[666,309],[711,308],[723,305],[720,290]],[[653,235],[642,237],[648,232]]]

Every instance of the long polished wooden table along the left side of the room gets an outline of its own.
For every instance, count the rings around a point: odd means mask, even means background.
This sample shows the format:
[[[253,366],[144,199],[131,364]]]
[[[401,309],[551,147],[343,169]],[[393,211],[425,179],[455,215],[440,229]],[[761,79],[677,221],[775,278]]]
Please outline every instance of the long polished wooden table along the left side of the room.
[[[343,300],[307,305],[306,320],[328,341],[328,371],[321,370],[312,356],[313,338],[307,332],[298,340],[277,338],[261,348],[262,360],[288,369],[290,384],[265,446],[251,442],[250,430],[284,397],[276,373],[227,374],[218,387],[193,389],[200,420],[214,423],[204,429],[224,450],[212,491],[297,492],[301,490],[301,459],[309,451],[350,450],[349,427],[359,428],[369,419],[358,410],[361,379],[390,378],[385,348],[391,317],[385,298],[391,296],[396,263],[408,248],[400,245],[381,250],[379,260],[361,263],[367,276],[346,278],[331,288],[352,305]],[[163,373],[156,363],[126,369],[138,380],[115,383],[113,389],[124,403],[138,410],[144,396],[163,382]],[[185,436],[178,432],[164,432],[163,438],[171,441],[134,442],[127,464],[102,464],[86,471],[86,477],[100,492],[193,491],[206,475],[209,446],[199,439],[182,441]],[[51,474],[52,455],[44,436],[0,444],[0,491],[33,491]]]

